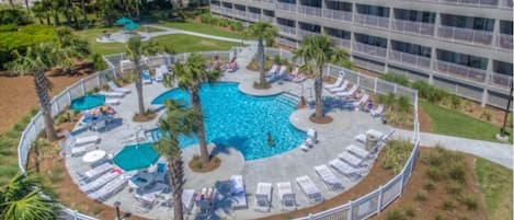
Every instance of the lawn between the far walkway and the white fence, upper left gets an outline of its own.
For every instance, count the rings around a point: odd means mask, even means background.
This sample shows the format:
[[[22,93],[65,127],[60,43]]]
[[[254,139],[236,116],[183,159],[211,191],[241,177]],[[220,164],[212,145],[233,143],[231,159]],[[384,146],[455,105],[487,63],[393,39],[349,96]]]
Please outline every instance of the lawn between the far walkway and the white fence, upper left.
[[[90,43],[91,51],[99,53],[101,55],[124,53],[125,44],[119,43],[98,43],[96,37],[103,35],[103,31],[114,33],[119,31],[118,27],[110,28],[90,28],[87,31],[77,32],[78,35],[84,37]],[[176,53],[194,53],[194,51],[206,51],[206,50],[228,50],[232,46],[239,46],[239,44],[222,42],[216,39],[208,39],[203,37],[190,36],[185,34],[173,34],[164,35],[152,38],[162,45],[171,45]],[[146,44],[146,42],[144,42]]]

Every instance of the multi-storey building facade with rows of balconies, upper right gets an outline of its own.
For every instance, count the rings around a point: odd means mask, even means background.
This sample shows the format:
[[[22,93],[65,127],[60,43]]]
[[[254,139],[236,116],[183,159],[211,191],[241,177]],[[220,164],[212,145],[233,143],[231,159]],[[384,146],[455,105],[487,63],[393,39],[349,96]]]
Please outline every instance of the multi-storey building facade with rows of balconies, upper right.
[[[324,33],[376,72],[504,107],[513,80],[512,0],[210,0],[210,12],[266,21],[297,47]]]

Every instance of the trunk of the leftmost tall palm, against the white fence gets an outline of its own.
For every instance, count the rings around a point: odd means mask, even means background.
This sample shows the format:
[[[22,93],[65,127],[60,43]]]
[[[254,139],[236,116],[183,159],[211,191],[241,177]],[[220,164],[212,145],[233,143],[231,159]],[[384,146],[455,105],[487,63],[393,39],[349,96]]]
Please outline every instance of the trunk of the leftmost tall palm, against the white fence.
[[[54,118],[52,118],[50,95],[48,94],[49,83],[43,71],[34,72],[34,86],[39,102],[41,111],[43,112],[43,119],[45,120],[46,138],[50,141],[57,139],[57,134],[54,129]]]

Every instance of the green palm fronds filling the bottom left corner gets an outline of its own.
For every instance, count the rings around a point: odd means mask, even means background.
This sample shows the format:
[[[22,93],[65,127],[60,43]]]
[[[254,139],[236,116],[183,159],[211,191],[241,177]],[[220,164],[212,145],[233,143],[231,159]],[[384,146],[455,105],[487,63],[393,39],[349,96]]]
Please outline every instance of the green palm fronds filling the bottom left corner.
[[[0,190],[0,219],[4,220],[39,220],[57,219],[59,206],[49,192],[41,187],[39,178],[16,174]]]

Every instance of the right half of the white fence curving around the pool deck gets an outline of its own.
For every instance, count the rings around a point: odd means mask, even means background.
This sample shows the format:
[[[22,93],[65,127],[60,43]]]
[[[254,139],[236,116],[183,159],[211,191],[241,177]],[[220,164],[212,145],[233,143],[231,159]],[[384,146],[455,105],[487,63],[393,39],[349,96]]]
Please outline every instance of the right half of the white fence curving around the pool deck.
[[[281,55],[283,58],[290,57],[290,53],[283,49],[266,48],[266,54]],[[410,88],[404,88],[399,84],[387,82],[385,80],[362,74],[353,70],[347,70],[342,67],[328,65],[325,71],[328,74],[338,78],[339,72],[344,70],[346,72],[345,79],[365,88],[369,91],[380,94],[395,93],[396,95],[406,95],[409,97],[414,107],[414,136],[413,149],[407,160],[401,172],[392,177],[389,182],[380,185],[377,189],[364,195],[359,198],[350,200],[346,204],[333,207],[331,209],[310,213],[296,220],[363,220],[382,211],[389,204],[395,201],[401,196],[403,186],[409,182],[409,178],[414,169],[414,163],[420,154],[420,126],[418,120],[418,91]]]

